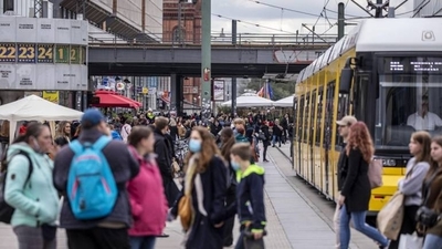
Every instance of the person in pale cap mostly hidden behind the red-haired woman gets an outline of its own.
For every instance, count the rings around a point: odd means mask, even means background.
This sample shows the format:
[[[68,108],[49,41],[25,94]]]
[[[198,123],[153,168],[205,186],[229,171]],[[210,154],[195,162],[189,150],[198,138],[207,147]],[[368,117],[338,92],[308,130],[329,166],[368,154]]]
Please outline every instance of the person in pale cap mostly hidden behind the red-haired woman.
[[[347,170],[347,154],[346,154],[346,145],[347,145],[347,137],[350,133],[350,126],[355,124],[357,120],[354,116],[345,116],[340,121],[337,121],[336,124],[338,125],[338,131],[339,135],[343,137],[344,143],[341,144],[341,151],[338,159],[338,165],[337,165],[337,178],[338,178],[338,191],[340,193],[340,189],[343,188],[343,179],[340,176],[346,174]],[[338,193],[338,196],[339,196]],[[335,234],[336,234],[336,248],[340,248],[340,239],[339,239],[339,212],[340,212],[340,206],[339,204],[336,205],[336,210],[335,210],[335,216],[333,218],[334,225],[335,225]]]

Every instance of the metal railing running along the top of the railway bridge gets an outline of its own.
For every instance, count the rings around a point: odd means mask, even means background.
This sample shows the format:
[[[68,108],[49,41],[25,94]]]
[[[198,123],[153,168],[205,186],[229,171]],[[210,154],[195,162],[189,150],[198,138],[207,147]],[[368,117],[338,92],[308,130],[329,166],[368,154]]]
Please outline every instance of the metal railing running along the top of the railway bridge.
[[[160,38],[157,42],[154,39]],[[307,46],[326,49],[337,41],[337,35],[315,34],[269,34],[269,33],[239,33],[236,37],[228,33],[212,33],[212,45],[217,46]],[[90,45],[145,45],[145,46],[193,46],[200,45],[201,39],[183,34],[172,39],[172,33],[146,34],[143,38],[124,39],[107,32],[90,32]]]

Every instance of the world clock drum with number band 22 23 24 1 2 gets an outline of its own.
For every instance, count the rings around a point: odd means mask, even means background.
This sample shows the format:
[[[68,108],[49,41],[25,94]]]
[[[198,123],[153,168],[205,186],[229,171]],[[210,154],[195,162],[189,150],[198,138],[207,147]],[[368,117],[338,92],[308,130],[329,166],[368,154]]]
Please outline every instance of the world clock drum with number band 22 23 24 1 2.
[[[88,23],[0,18],[0,91],[88,90]]]

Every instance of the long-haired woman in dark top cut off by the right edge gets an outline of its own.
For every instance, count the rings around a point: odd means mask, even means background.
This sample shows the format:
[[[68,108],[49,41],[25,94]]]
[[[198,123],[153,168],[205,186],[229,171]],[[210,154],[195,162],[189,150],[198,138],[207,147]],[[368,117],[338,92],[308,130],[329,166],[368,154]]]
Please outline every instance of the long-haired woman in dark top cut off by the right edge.
[[[442,136],[436,136],[431,143],[432,164],[423,180],[423,206],[433,216],[442,216]],[[424,225],[418,218],[421,230],[425,232],[422,249],[442,249],[442,219]]]

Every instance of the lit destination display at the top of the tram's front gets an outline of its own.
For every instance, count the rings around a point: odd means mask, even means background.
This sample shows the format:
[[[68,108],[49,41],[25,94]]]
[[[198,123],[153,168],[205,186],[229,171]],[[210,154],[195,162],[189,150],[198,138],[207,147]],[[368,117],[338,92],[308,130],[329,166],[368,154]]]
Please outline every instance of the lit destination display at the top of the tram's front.
[[[381,73],[442,74],[442,58],[383,58]]]

